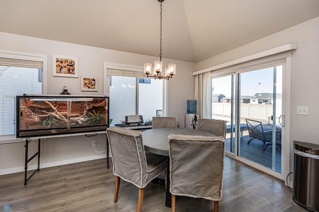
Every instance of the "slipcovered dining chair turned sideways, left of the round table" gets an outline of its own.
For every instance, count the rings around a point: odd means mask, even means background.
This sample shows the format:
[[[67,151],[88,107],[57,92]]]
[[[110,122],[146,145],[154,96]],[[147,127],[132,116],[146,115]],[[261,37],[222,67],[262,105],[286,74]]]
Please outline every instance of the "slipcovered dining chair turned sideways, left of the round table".
[[[144,188],[164,170],[167,173],[168,158],[145,152],[141,131],[114,126],[107,129],[107,136],[116,176],[114,203],[118,201],[123,179],[139,188],[137,211],[141,212]]]

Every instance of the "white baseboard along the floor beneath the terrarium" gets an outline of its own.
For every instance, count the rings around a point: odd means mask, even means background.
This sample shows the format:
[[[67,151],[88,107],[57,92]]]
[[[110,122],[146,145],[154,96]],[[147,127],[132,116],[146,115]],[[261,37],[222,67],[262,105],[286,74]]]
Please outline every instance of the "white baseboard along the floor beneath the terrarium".
[[[106,158],[106,155],[93,155],[93,156],[89,156],[89,157],[75,158],[75,159],[62,160],[62,161],[55,161],[55,162],[51,162],[51,163],[40,163],[40,169],[53,167],[53,166],[66,165],[66,164],[71,164],[71,163],[78,163],[78,162],[83,162],[83,161],[96,160],[96,159],[101,159],[101,158]],[[35,170],[37,168],[38,168],[37,164],[29,165],[28,166],[28,171],[29,170]],[[24,172],[24,166],[23,167],[21,166],[21,167],[10,168],[10,169],[2,169],[2,170],[0,170],[0,175],[12,174],[12,173],[17,173],[17,172]]]

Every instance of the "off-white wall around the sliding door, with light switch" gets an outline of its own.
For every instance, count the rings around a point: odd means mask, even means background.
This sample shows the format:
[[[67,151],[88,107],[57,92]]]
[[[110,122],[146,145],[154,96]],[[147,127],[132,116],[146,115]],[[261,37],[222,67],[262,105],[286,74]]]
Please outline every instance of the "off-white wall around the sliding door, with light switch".
[[[287,43],[298,45],[291,59],[290,146],[294,140],[319,144],[316,133],[319,119],[319,17],[197,63],[196,70]],[[309,115],[297,115],[297,106],[308,106]],[[292,166],[292,152],[290,156]]]

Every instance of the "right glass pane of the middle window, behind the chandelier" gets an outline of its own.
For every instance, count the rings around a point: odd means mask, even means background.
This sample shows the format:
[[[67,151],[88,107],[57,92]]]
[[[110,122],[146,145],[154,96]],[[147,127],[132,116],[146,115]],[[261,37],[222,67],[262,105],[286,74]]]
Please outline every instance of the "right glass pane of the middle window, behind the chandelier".
[[[139,115],[142,115],[144,122],[147,122],[152,120],[153,116],[157,116],[157,110],[162,110],[163,82],[150,78],[140,79],[145,80],[140,80],[139,84]]]

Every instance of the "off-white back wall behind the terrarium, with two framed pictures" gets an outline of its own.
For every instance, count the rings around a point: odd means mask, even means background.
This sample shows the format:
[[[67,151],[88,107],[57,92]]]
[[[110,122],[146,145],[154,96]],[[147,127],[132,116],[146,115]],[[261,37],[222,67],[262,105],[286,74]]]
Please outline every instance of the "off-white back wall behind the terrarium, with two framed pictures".
[[[145,62],[158,60],[157,57],[132,54],[90,46],[38,39],[0,32],[0,49],[47,55],[47,94],[59,94],[67,86],[72,95],[103,95],[103,63],[119,63],[143,67]],[[53,77],[52,54],[78,57],[79,78]],[[179,125],[184,126],[186,101],[194,98],[195,64],[162,58],[163,66],[176,64],[176,75],[168,82],[168,115],[177,116]],[[99,79],[98,92],[82,92],[81,76],[96,76]],[[181,109],[184,108],[184,109]],[[106,157],[106,153],[92,150],[92,140],[97,140],[97,150],[105,148],[103,134],[97,137],[72,136],[48,138],[41,141],[40,168],[78,161]],[[21,141],[21,140],[20,140]],[[0,175],[24,170],[24,142],[0,141]],[[31,142],[30,155],[36,152]],[[36,160],[29,165],[35,165]],[[22,180],[22,179],[21,179]]]

